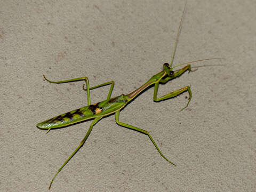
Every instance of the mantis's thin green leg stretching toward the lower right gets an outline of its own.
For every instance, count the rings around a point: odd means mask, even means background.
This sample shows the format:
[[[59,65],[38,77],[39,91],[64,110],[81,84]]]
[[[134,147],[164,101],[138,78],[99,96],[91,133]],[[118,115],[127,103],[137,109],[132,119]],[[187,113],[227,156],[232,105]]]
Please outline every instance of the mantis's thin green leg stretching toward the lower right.
[[[153,138],[151,137],[151,135],[149,134],[148,131],[143,130],[143,129],[140,129],[140,128],[135,127],[135,126],[132,126],[132,125],[129,125],[129,124],[126,124],[126,123],[119,122],[119,113],[120,113],[120,111],[116,111],[116,115],[115,115],[115,117],[116,117],[116,123],[117,123],[118,125],[121,125],[121,126],[123,126],[123,127],[129,128],[129,129],[132,129],[132,130],[135,130],[135,131],[139,131],[139,132],[141,132],[141,133],[144,133],[144,134],[148,135],[149,139],[153,142],[153,144],[154,144],[154,146],[156,147],[156,149],[158,150],[159,154],[160,154],[167,162],[169,162],[169,163],[173,164],[174,166],[176,166],[174,163],[170,162],[170,161],[162,154],[161,150],[158,148],[158,146],[156,145],[156,142],[153,140]]]

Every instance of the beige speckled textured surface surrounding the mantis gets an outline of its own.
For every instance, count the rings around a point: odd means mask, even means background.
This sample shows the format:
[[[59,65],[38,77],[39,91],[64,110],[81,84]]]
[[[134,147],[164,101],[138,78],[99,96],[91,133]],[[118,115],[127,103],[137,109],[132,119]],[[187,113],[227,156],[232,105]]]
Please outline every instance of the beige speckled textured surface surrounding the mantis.
[[[55,172],[90,122],[48,134],[36,123],[86,105],[87,76],[115,81],[129,93],[170,61],[184,1],[2,1],[0,6],[0,191],[47,191]],[[190,1],[174,63],[225,57],[159,87],[191,85],[178,98],[153,102],[150,89],[120,120],[148,130],[150,140],[115,123],[95,125],[61,171],[52,191],[255,191],[256,3]],[[202,65],[198,63],[197,65]],[[92,102],[109,87],[91,92]]]

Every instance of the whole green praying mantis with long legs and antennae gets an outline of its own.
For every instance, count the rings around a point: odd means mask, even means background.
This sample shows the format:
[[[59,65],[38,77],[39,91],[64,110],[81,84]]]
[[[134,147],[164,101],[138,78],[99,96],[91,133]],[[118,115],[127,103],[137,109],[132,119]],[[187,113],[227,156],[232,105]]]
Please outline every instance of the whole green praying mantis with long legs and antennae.
[[[58,175],[58,173],[69,162],[69,160],[77,153],[77,151],[84,145],[85,141],[87,140],[87,138],[89,137],[89,135],[90,135],[90,133],[92,131],[93,126],[98,121],[100,121],[100,119],[102,117],[105,117],[105,116],[108,116],[108,115],[114,114],[114,113],[115,113],[116,123],[118,125],[121,125],[123,127],[129,128],[131,130],[138,131],[138,132],[141,132],[143,134],[148,135],[149,139],[151,140],[151,142],[153,142],[154,146],[156,147],[158,153],[167,162],[169,162],[172,165],[176,166],[174,163],[169,161],[169,159],[167,159],[162,154],[161,150],[158,148],[158,146],[156,145],[156,142],[153,140],[153,138],[151,137],[151,135],[149,134],[148,131],[140,129],[140,128],[135,127],[133,125],[129,125],[129,124],[120,122],[119,121],[119,113],[120,113],[120,110],[127,105],[127,103],[132,101],[138,94],[140,94],[143,90],[147,89],[148,87],[150,87],[153,84],[154,84],[154,96],[153,96],[153,99],[156,102],[177,97],[177,95],[179,95],[179,94],[181,94],[183,92],[188,91],[188,93],[189,93],[188,103],[181,110],[185,109],[189,105],[189,102],[190,102],[190,100],[192,98],[192,93],[191,93],[190,87],[189,86],[185,86],[185,87],[182,87],[179,90],[176,90],[176,91],[173,91],[171,93],[168,93],[168,94],[164,95],[163,97],[157,97],[159,83],[165,84],[168,81],[181,76],[183,73],[185,73],[185,71],[188,71],[188,73],[190,73],[191,71],[197,70],[197,69],[191,70],[190,63],[199,62],[199,61],[205,61],[205,60],[211,60],[211,59],[221,59],[221,58],[202,59],[202,60],[196,60],[196,61],[190,61],[190,62],[182,63],[182,64],[174,66],[174,67],[172,66],[174,55],[175,55],[175,50],[177,48],[178,38],[179,38],[180,30],[181,30],[181,23],[182,23],[183,15],[185,13],[185,8],[186,8],[186,3],[185,3],[185,6],[184,6],[184,9],[183,9],[182,16],[181,16],[180,25],[179,25],[177,36],[176,36],[176,39],[175,39],[174,50],[173,50],[173,53],[172,53],[170,64],[169,63],[164,63],[162,71],[160,71],[159,73],[153,75],[145,84],[141,85],[138,89],[132,91],[129,94],[121,94],[121,95],[119,95],[117,97],[111,98],[111,94],[112,94],[112,91],[114,89],[114,82],[113,81],[110,81],[110,82],[107,82],[107,83],[103,83],[103,84],[100,84],[100,85],[97,85],[97,86],[90,87],[89,86],[89,79],[87,77],[73,78],[73,79],[68,79],[68,80],[65,80],[65,81],[54,82],[54,81],[49,81],[49,79],[47,79],[43,75],[44,79],[47,82],[50,82],[50,83],[57,83],[57,84],[59,84],[59,83],[68,83],[68,82],[76,82],[76,81],[85,81],[86,88],[83,85],[83,89],[87,93],[88,105],[86,107],[82,107],[82,108],[70,111],[68,113],[65,113],[65,114],[53,117],[53,118],[48,119],[46,121],[43,121],[41,123],[38,123],[36,126],[39,129],[47,130],[47,132],[49,132],[51,129],[54,129],[54,128],[65,127],[65,126],[68,126],[68,125],[71,125],[71,124],[75,124],[75,123],[78,123],[78,122],[85,121],[87,119],[93,119],[93,121],[92,121],[92,123],[90,125],[90,128],[87,131],[87,133],[86,133],[85,137],[83,138],[83,140],[81,141],[81,143],[75,149],[73,154],[71,154],[68,157],[66,162],[62,164],[60,169],[57,171],[57,173],[52,178],[50,186],[49,186],[49,189],[51,188],[52,182],[54,181],[54,179]],[[182,66],[182,65],[186,65],[186,66],[181,68],[181,69],[173,70],[174,68],[176,68],[178,66]],[[91,105],[90,90],[96,89],[98,87],[106,86],[106,85],[110,85],[110,90],[108,92],[107,99],[104,100],[104,101],[101,101],[101,102],[98,102],[98,103],[94,103],[94,104]]]

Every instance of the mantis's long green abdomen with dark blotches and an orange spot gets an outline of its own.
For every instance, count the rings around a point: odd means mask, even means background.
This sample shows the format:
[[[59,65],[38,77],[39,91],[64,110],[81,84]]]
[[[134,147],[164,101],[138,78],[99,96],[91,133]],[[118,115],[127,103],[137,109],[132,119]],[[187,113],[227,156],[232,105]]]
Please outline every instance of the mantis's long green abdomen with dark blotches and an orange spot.
[[[116,110],[123,108],[126,103],[127,100],[125,99],[124,94],[122,94],[118,97],[94,103],[90,106],[82,107],[50,118],[46,121],[38,123],[37,127],[40,129],[52,129],[85,121],[86,119],[106,116],[111,113],[115,113]]]

